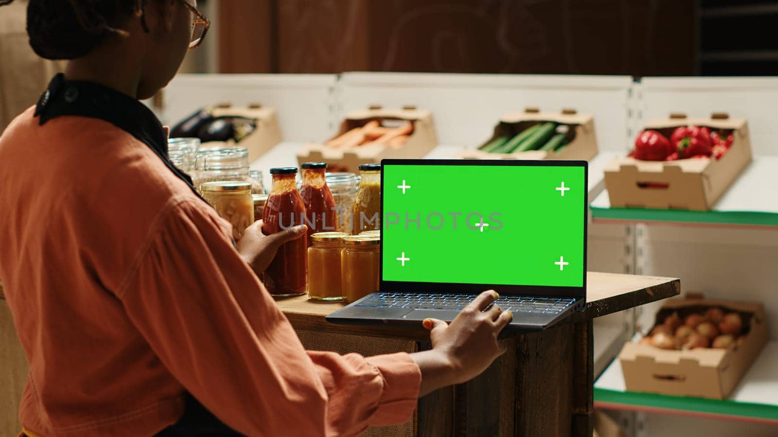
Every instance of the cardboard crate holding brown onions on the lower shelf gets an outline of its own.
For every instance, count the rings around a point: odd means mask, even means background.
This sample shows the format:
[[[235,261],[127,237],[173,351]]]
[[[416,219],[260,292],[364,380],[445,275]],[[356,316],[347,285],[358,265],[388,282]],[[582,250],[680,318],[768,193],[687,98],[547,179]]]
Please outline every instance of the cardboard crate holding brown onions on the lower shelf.
[[[762,304],[668,299],[657,313],[657,324],[675,311],[683,319],[688,313],[704,313],[710,306],[741,314],[746,333],[741,344],[729,349],[674,351],[629,341],[619,354],[626,389],[713,399],[728,397],[767,343],[767,323]]]

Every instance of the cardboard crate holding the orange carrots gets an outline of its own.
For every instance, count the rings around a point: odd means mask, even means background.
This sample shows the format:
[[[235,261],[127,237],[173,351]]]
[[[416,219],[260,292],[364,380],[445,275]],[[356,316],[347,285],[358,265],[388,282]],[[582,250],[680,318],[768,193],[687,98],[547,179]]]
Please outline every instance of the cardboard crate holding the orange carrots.
[[[328,163],[328,171],[356,172],[360,164],[380,163],[384,158],[423,158],[437,145],[433,117],[429,110],[406,106],[401,109],[384,109],[372,106],[354,110],[346,115],[337,134],[338,138],[353,128],[361,128],[370,121],[410,121],[413,132],[404,145],[398,148],[378,143],[368,143],[349,148],[335,148],[324,144],[303,145],[297,153],[300,164],[310,162]],[[329,141],[329,140],[328,140]]]

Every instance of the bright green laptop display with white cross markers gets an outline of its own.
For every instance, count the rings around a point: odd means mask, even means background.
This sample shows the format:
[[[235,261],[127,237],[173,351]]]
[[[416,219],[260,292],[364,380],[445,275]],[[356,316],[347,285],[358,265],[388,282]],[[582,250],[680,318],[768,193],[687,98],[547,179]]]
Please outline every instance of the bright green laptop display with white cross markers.
[[[583,164],[383,171],[383,281],[584,285]]]

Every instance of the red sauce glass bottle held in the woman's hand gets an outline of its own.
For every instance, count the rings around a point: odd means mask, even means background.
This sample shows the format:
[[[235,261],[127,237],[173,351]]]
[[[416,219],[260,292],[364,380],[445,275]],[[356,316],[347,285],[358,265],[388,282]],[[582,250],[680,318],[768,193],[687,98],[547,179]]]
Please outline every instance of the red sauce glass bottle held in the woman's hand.
[[[302,225],[305,207],[295,184],[295,167],[270,169],[273,183],[268,202],[262,212],[262,233],[275,232]],[[283,243],[265,270],[265,286],[275,296],[302,295],[306,292],[307,239],[298,238]]]

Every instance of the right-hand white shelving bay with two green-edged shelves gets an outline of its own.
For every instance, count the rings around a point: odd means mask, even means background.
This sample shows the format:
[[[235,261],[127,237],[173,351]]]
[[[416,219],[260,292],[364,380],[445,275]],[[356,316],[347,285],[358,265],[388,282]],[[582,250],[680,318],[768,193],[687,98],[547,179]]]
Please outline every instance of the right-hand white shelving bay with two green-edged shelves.
[[[634,130],[670,112],[728,112],[745,117],[757,155],[710,212],[610,208],[607,191],[592,202],[594,226],[633,229],[634,271],[681,278],[682,292],[765,305],[770,343],[728,400],[712,401],[624,390],[618,360],[595,384],[595,404],[628,411],[633,435],[778,435],[778,79],[644,78],[636,86]],[[619,256],[613,253],[614,258]],[[636,330],[654,323],[661,302],[636,309]],[[634,411],[630,413],[630,411]],[[733,425],[736,424],[736,425]]]

